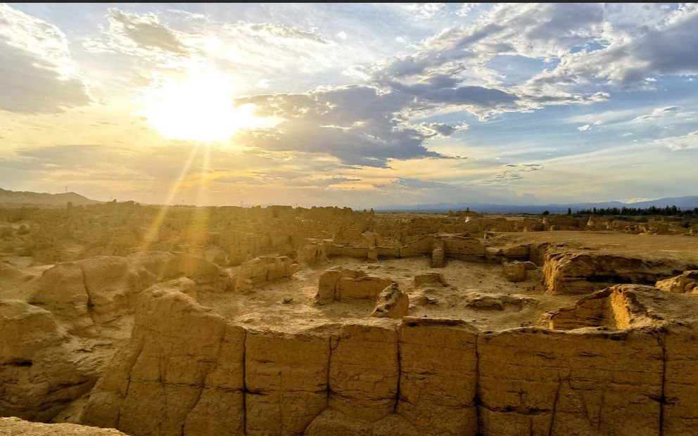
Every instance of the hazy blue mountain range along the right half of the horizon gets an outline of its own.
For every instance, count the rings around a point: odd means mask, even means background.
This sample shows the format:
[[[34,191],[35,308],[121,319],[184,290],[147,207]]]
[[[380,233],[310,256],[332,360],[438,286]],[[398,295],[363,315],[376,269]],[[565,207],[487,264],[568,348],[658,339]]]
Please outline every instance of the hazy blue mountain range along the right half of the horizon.
[[[690,197],[669,197],[659,198],[657,200],[641,201],[638,203],[621,203],[620,201],[605,201],[602,203],[569,203],[569,204],[551,204],[551,205],[493,205],[489,203],[436,203],[431,205],[412,205],[412,206],[393,206],[393,207],[376,207],[374,210],[380,212],[448,212],[449,210],[466,210],[467,207],[473,212],[486,212],[497,214],[510,213],[541,213],[545,210],[550,213],[563,214],[567,213],[567,209],[572,212],[582,209],[592,209],[593,207],[666,207],[676,206],[681,210],[693,209],[698,207],[698,195]]]

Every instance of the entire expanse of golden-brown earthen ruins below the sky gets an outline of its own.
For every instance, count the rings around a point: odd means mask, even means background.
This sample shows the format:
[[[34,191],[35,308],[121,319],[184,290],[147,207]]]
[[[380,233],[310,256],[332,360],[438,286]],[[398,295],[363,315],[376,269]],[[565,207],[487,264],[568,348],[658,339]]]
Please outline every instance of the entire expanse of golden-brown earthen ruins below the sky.
[[[697,270],[664,222],[0,209],[0,433],[694,434]]]

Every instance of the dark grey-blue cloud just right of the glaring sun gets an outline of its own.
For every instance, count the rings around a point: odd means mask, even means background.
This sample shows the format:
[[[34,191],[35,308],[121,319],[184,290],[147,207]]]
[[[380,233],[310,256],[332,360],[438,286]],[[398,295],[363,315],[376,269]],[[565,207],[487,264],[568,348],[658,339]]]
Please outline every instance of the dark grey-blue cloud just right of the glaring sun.
[[[240,139],[269,150],[327,153],[348,165],[386,167],[388,159],[438,157],[427,150],[428,134],[405,127],[400,119],[413,97],[373,86],[341,86],[308,94],[272,94],[243,98],[260,115],[287,121],[255,130]]]

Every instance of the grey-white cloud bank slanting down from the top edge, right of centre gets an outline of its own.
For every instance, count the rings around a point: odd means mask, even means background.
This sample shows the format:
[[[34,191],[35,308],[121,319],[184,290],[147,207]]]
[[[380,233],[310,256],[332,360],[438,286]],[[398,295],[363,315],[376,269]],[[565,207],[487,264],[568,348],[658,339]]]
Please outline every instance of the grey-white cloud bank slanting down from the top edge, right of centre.
[[[512,96],[496,107],[465,105],[465,110],[483,120],[497,113],[529,111],[545,105],[596,103],[607,100],[609,94],[571,92],[559,81],[521,82],[507,87],[502,85],[503,77],[487,65],[502,55],[554,59],[588,43],[602,28],[603,9],[597,4],[500,4],[476,24],[443,30],[426,39],[416,52],[376,68],[374,78],[392,87],[396,82],[410,86],[431,82],[443,92],[481,86]]]

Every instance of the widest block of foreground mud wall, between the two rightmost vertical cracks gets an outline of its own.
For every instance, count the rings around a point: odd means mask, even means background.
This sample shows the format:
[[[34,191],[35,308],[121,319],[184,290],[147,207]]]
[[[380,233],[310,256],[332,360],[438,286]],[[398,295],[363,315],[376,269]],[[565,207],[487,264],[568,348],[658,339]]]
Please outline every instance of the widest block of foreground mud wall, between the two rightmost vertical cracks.
[[[481,335],[477,349],[483,434],[660,434],[656,335],[517,328]]]

